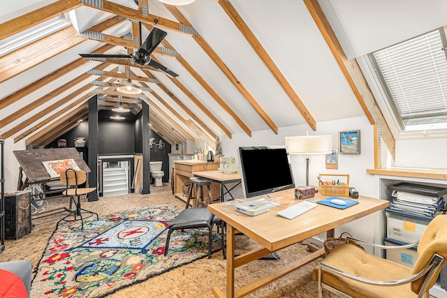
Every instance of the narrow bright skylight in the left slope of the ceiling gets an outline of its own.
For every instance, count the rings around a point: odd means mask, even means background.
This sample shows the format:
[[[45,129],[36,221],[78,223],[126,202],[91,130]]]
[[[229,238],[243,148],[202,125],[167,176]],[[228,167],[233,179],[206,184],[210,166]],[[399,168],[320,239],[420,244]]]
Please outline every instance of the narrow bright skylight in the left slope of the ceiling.
[[[51,20],[47,20],[37,26],[15,34],[14,36],[5,38],[0,41],[0,57],[18,50],[25,45],[34,43],[34,41],[49,36],[70,25],[71,22],[67,20],[64,15],[59,15],[59,17],[54,17]]]

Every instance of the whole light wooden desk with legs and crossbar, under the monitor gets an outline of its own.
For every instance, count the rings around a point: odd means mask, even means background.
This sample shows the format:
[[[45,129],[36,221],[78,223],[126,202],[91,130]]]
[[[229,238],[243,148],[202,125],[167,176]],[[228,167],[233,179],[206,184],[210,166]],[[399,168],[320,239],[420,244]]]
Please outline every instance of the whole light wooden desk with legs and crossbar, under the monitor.
[[[270,197],[274,202],[279,202],[280,204],[295,204],[300,202],[293,199],[293,189],[271,194]],[[317,200],[321,200],[319,195],[311,201],[316,202]],[[267,276],[258,278],[256,281],[244,285],[242,288],[235,289],[235,269],[237,267],[322,232],[328,232],[331,235],[333,234],[333,229],[337,226],[349,223],[362,216],[367,216],[375,211],[385,209],[389,205],[387,200],[378,200],[362,196],[358,198],[358,201],[359,204],[355,204],[346,209],[335,209],[333,207],[318,205],[318,207],[307,211],[305,214],[293,220],[276,215],[277,211],[286,207],[275,207],[267,213],[259,214],[258,216],[247,216],[245,214],[237,216],[223,209],[228,208],[234,211],[234,207],[221,207],[223,203],[208,205],[208,209],[213,214],[219,216],[219,218],[222,218],[227,225],[226,294],[219,287],[214,286],[212,288],[214,296],[243,297],[289,274],[291,271],[307,265],[309,262],[324,255],[324,248],[310,253],[305,258],[296,260],[277,271],[273,271]],[[258,248],[235,258],[235,230],[246,234],[251,239],[262,244],[264,248]]]

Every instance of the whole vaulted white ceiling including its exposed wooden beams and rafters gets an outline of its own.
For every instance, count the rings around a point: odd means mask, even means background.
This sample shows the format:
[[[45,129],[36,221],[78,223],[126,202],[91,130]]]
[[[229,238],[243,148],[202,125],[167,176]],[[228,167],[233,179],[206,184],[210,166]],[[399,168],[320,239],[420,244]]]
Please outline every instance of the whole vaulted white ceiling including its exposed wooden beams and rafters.
[[[371,124],[382,123],[393,153],[393,135],[365,77],[328,22],[328,3],[325,12],[316,0],[0,3],[3,138],[48,144],[87,117],[96,94],[100,109],[121,100],[131,114],[144,100],[152,127],[171,144],[214,144],[216,136],[251,137],[295,125],[316,131],[320,121],[366,115]],[[178,77],[131,59],[80,57],[130,54],[140,45],[138,22],[142,40],[154,26],[168,33],[152,59]],[[142,94],[115,90],[128,78],[144,87]]]

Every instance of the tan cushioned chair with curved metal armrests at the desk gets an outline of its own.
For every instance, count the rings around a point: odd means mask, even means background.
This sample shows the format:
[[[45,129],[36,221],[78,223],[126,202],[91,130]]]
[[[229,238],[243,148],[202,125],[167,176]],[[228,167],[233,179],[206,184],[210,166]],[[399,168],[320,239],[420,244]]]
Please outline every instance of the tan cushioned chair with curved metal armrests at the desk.
[[[429,297],[447,258],[447,215],[436,216],[420,241],[405,246],[383,246],[357,239],[339,244],[316,266],[312,278],[323,289],[342,297]],[[384,249],[418,246],[413,269],[364,251],[356,244]]]

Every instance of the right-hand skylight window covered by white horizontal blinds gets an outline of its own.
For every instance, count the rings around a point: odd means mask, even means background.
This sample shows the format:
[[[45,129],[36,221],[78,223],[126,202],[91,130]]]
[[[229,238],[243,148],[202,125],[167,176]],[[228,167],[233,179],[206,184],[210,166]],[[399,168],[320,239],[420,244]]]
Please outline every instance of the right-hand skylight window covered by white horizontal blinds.
[[[446,45],[439,29],[369,54],[403,131],[447,123]]]

